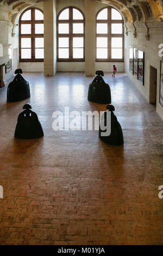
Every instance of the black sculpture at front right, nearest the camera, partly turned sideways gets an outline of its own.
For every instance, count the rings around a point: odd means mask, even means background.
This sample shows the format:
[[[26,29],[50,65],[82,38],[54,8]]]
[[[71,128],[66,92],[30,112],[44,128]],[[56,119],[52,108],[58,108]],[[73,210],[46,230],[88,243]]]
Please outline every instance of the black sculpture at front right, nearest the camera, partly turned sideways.
[[[109,136],[102,136],[102,132],[106,132],[106,130],[102,131],[101,125],[99,125],[99,138],[103,142],[108,143],[110,145],[116,145],[116,146],[123,145],[124,141],[123,141],[122,128],[121,128],[120,123],[117,121],[115,114],[113,113],[113,111],[115,111],[115,108],[112,105],[108,105],[106,108],[108,109],[108,111],[105,111],[102,114],[101,122],[102,122],[102,120],[104,120],[104,125],[106,127],[106,115],[110,111],[111,112],[111,120],[109,120],[109,121],[111,121],[111,133]]]

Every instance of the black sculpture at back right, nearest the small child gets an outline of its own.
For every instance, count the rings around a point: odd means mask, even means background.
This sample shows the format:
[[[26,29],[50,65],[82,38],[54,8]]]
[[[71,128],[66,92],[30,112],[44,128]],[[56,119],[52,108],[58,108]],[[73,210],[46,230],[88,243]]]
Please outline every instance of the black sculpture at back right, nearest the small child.
[[[96,71],[95,79],[90,83],[87,99],[101,104],[111,103],[111,92],[109,84],[105,83],[102,76],[104,72],[102,70]]]

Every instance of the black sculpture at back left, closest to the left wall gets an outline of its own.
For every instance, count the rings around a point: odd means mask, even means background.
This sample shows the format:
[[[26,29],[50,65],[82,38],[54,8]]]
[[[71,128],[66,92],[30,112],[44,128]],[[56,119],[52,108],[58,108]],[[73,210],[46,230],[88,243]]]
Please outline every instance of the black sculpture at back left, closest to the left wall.
[[[21,75],[22,70],[16,69],[15,74],[17,74],[14,80],[9,83],[7,90],[7,101],[16,102],[20,100],[26,100],[30,97],[29,83]]]

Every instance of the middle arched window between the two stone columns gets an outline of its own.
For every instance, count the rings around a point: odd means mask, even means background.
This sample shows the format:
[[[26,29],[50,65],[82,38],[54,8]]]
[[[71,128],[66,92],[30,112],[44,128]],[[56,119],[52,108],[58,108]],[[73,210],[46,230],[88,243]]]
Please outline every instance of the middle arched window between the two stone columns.
[[[74,7],[62,9],[57,17],[57,60],[84,61],[85,26],[82,11]]]

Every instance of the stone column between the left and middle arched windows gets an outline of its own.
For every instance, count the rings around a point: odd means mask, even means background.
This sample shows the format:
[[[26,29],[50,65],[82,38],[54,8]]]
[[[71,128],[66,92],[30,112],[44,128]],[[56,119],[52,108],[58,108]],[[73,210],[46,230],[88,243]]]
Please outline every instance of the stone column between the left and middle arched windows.
[[[53,76],[57,66],[56,0],[43,2],[44,75]]]

